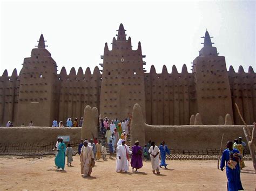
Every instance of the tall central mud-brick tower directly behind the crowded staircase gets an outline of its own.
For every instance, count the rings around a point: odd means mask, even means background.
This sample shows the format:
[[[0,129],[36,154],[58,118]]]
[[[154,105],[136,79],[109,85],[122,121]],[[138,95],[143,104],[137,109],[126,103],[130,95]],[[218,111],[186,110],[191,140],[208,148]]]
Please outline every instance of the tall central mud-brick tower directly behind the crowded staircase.
[[[124,119],[138,103],[145,116],[145,89],[143,55],[140,42],[133,50],[131,38],[126,40],[123,24],[120,24],[112,50],[105,43],[103,56],[102,87],[100,91],[100,114],[110,119]]]

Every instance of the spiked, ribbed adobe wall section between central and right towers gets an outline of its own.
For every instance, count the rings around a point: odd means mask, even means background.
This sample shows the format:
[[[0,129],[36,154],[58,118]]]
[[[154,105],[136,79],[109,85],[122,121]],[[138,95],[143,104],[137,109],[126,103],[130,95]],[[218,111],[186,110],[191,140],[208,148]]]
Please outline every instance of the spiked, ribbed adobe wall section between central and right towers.
[[[154,66],[144,74],[146,98],[146,123],[152,125],[188,125],[190,116],[197,113],[193,74],[183,65],[178,73],[176,66],[172,73],[163,66],[157,74]]]

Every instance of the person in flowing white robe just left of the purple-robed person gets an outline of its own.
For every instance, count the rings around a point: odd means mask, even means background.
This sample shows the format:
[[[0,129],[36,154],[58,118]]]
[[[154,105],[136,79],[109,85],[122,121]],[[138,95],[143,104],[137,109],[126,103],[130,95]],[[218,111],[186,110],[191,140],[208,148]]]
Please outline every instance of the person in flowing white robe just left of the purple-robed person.
[[[132,152],[129,146],[125,145],[125,140],[122,140],[122,145],[117,147],[117,167],[116,172],[128,172],[129,170],[129,154]]]

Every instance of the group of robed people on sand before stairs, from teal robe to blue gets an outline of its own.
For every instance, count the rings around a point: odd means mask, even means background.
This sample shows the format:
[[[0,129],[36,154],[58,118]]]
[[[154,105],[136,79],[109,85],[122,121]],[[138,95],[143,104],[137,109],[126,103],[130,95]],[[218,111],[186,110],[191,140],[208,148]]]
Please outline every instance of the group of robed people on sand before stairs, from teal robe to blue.
[[[139,141],[137,140],[130,149],[129,146],[126,145],[126,140],[119,138],[116,147],[112,145],[112,140],[109,141],[108,145],[110,159],[114,151],[116,151],[116,172],[128,172],[129,161],[132,172],[138,172],[138,169],[143,167],[143,158],[144,160],[149,160],[149,157],[153,173],[160,174],[160,168],[162,167],[167,169],[165,159],[166,154],[170,154],[170,150],[167,145],[165,145],[164,141],[159,147],[155,145],[154,142],[149,141],[143,148],[139,145]],[[65,156],[67,157],[66,165],[71,166],[75,153],[70,144],[66,147],[63,143],[63,138],[58,137],[56,146],[53,149],[56,149],[55,165],[57,166],[57,170],[64,170]],[[103,161],[106,161],[106,143],[96,138],[90,140],[81,139],[78,146],[78,154],[80,155],[81,174],[84,177],[90,176],[95,161],[100,161],[101,158],[103,158]],[[160,162],[159,158],[161,159]]]

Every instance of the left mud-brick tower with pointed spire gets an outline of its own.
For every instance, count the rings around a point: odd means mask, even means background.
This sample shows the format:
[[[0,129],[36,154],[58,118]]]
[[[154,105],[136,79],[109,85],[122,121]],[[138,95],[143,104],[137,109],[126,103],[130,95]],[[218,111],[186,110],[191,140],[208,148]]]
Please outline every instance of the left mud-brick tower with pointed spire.
[[[32,49],[30,58],[25,58],[21,70],[18,98],[17,125],[50,126],[56,117],[57,66],[45,49],[41,34],[37,48]]]

